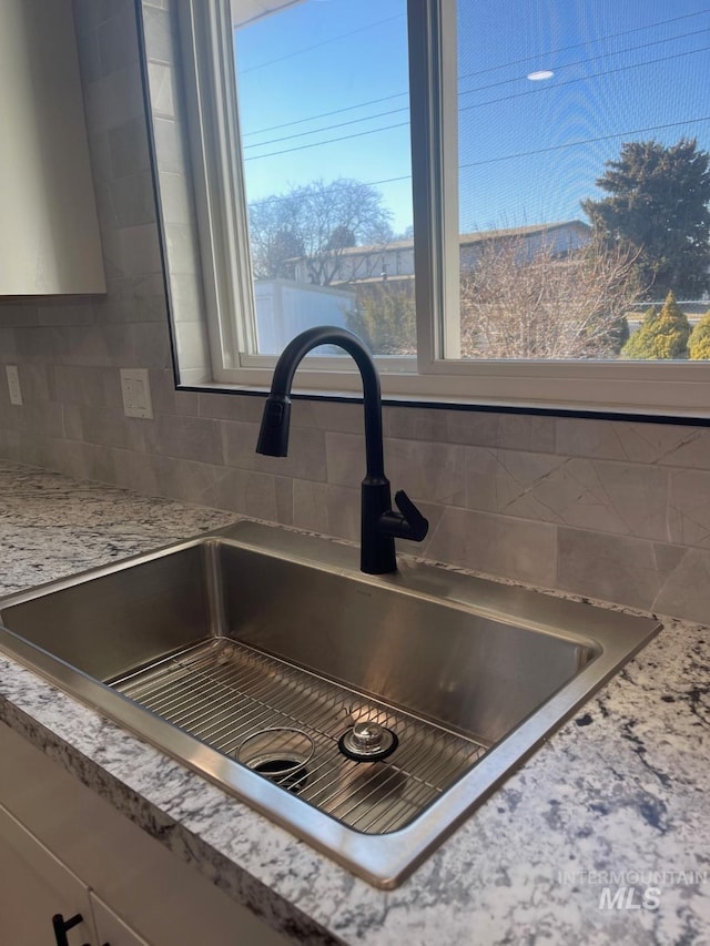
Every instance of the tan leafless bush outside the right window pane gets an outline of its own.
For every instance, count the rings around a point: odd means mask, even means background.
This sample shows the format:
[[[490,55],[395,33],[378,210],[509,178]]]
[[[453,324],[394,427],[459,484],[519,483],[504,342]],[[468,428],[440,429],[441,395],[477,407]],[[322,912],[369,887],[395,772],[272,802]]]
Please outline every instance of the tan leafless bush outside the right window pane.
[[[462,274],[462,353],[468,358],[609,358],[641,295],[636,256],[592,242],[560,257],[525,237],[486,241]]]

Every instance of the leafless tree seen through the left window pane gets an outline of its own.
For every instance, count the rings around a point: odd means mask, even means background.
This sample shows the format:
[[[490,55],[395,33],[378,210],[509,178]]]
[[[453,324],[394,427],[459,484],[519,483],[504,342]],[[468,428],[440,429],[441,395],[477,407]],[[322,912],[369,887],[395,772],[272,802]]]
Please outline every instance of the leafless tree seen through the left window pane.
[[[327,286],[339,281],[345,250],[389,242],[389,217],[378,191],[348,179],[314,181],[254,201],[250,204],[254,272],[258,278],[290,273],[293,277],[293,257],[300,256],[310,282]]]

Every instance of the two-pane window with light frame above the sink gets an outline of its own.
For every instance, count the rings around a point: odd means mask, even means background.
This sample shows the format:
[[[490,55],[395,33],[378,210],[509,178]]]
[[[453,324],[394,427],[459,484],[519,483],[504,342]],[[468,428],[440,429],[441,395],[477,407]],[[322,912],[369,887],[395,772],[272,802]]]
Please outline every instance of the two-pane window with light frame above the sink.
[[[214,382],[331,323],[386,397],[708,414],[697,0],[183,6]]]

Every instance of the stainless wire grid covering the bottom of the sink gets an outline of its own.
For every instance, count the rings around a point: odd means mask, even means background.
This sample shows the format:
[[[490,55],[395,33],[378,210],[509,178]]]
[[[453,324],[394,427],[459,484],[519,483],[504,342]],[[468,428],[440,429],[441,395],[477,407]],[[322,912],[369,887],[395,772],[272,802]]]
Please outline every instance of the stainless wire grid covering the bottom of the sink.
[[[487,750],[229,638],[211,638],[111,685],[234,760],[247,740],[265,730],[295,731],[294,740],[303,734],[312,751],[297,777],[286,753],[282,767],[288,774],[280,780],[277,749],[273,765],[254,771],[366,834],[404,827]],[[399,741],[396,751],[379,762],[347,759],[338,740],[357,722],[392,730]],[[268,733],[262,739],[267,742]]]

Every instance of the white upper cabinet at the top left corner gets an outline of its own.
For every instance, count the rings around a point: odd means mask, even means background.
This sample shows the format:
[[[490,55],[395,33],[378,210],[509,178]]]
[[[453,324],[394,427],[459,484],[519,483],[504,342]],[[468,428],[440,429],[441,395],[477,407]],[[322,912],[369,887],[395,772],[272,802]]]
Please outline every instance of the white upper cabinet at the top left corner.
[[[0,2],[0,296],[104,293],[71,0]]]

